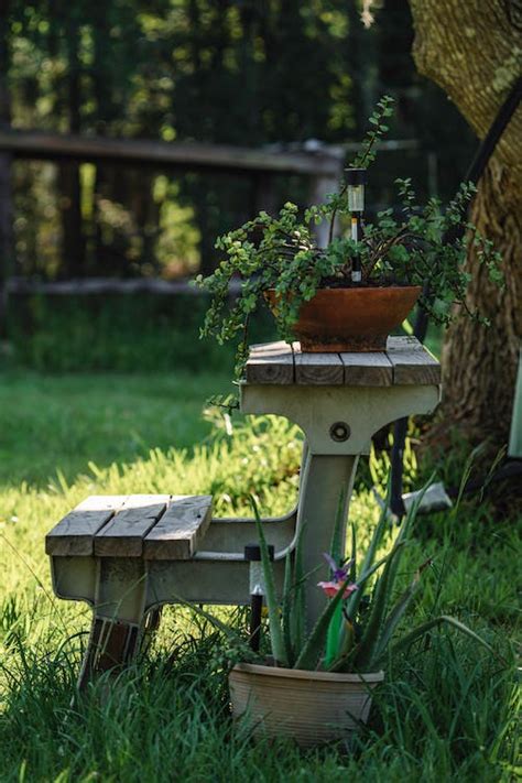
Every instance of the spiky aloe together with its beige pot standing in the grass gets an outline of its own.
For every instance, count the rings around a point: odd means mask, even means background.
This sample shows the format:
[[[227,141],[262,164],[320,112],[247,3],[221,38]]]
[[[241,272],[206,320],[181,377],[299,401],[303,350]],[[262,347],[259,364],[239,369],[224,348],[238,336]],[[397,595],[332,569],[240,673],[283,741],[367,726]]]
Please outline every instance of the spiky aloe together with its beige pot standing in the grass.
[[[348,559],[340,550],[339,514],[331,552],[325,555],[330,579],[317,583],[317,589],[328,598],[327,605],[307,632],[304,585],[314,579],[314,574],[303,573],[300,537],[294,552],[286,555],[284,586],[278,596],[271,553],[252,501],[263,576],[260,579],[258,574],[258,580],[264,581],[261,589],[268,608],[271,654],[267,656],[267,650],[254,652],[244,644],[244,639],[238,640],[236,631],[205,610],[196,611],[218,624],[232,642],[229,652],[233,664],[229,673],[232,716],[246,721],[253,736],[286,737],[302,747],[347,739],[368,720],[372,690],[384,678],[384,663],[442,623],[466,633],[493,653],[474,631],[444,615],[398,635],[421,577],[431,565],[431,559],[420,564],[410,584],[396,589],[418,502],[402,522],[388,554],[380,558],[378,552],[389,531],[385,510],[365,553],[360,553],[356,529],[351,526]],[[259,585],[254,598],[259,598]],[[255,624],[252,628],[251,623],[250,639],[259,640]]]

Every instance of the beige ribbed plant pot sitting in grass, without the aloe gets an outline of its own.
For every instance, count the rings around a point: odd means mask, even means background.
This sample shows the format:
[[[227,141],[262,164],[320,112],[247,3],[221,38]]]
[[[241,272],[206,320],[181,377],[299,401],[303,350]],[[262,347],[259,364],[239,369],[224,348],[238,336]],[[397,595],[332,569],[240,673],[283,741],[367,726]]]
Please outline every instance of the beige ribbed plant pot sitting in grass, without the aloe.
[[[302,748],[348,739],[368,720],[371,690],[383,678],[383,672],[331,674],[240,663],[229,674],[232,716],[242,717],[254,737],[285,737]]]

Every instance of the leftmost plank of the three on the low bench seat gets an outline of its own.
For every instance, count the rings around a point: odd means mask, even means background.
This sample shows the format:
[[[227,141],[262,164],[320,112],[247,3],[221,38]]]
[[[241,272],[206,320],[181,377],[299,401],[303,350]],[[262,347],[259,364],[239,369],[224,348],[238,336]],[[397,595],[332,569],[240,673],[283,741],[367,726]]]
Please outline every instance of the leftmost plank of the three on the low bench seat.
[[[96,494],[84,500],[45,536],[47,555],[93,555],[94,536],[123,507],[128,497]]]

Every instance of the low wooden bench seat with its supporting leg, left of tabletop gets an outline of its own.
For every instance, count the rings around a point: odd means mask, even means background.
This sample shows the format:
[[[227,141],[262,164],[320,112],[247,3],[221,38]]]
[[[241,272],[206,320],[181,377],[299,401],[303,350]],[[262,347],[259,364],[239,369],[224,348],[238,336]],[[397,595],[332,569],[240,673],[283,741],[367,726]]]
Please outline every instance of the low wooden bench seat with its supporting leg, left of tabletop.
[[[210,515],[209,496],[94,496],[47,534],[56,595],[76,599],[79,590],[94,606],[80,686],[93,672],[128,663],[157,627],[149,563],[191,559]]]

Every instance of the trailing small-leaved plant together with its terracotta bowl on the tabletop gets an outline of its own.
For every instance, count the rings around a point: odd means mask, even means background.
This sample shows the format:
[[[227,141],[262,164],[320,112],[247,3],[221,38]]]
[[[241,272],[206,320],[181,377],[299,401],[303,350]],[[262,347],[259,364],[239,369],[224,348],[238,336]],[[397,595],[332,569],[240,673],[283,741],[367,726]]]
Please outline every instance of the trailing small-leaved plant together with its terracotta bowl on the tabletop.
[[[263,302],[280,336],[300,340],[303,351],[383,350],[388,334],[417,300],[438,323],[450,319],[450,303],[478,317],[466,304],[468,274],[461,262],[468,242],[478,246],[492,278],[500,273],[491,243],[466,220],[472,184],[460,185],[442,209],[436,198],[417,205],[411,181],[396,180],[400,214],[390,208],[372,222],[363,219],[366,173],[388,130],[391,104],[382,98],[370,117],[370,131],[339,193],[304,216],[290,202],[275,217],[261,211],[217,240],[222,260],[214,274],[196,278],[211,295],[202,336],[220,344],[239,340],[238,377],[248,357],[250,318]],[[335,236],[339,219],[350,220],[348,236]],[[323,220],[329,221],[329,240],[319,248],[313,227]],[[240,292],[230,307],[229,285],[238,278]]]

